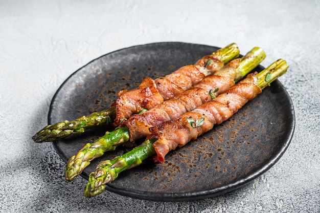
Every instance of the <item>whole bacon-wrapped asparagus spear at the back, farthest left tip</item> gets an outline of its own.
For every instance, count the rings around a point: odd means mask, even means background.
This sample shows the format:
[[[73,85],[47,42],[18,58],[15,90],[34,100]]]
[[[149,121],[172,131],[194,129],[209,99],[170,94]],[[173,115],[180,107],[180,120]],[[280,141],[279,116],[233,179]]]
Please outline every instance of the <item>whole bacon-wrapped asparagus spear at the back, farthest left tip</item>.
[[[190,89],[203,77],[220,70],[224,63],[239,56],[239,48],[233,43],[204,56],[194,65],[184,66],[177,71],[155,80],[146,78],[136,89],[120,91],[118,99],[110,108],[82,116],[72,121],[63,121],[45,126],[32,139],[35,142],[57,141],[71,134],[80,134],[92,127],[109,124],[117,126],[121,121],[142,109],[151,109],[158,103]]]

